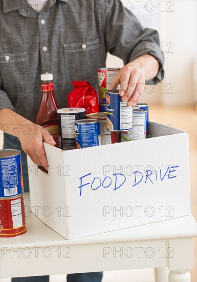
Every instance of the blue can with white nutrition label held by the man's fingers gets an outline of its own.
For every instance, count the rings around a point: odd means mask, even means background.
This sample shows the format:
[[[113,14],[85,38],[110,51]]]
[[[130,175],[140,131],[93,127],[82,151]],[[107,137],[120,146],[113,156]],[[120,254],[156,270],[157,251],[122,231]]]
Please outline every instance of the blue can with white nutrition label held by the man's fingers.
[[[119,90],[107,91],[107,130],[129,131],[132,129],[133,108],[122,101]]]

